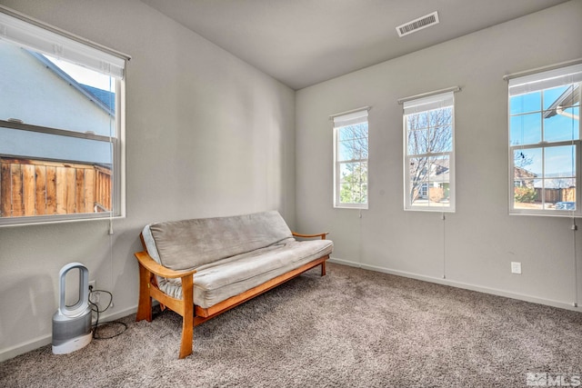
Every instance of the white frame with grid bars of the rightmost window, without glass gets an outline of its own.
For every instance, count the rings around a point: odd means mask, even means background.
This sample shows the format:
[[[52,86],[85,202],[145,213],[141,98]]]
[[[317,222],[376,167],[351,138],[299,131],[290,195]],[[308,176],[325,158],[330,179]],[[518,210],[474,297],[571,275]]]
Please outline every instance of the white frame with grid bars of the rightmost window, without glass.
[[[568,77],[571,77],[568,81]],[[558,140],[558,141],[547,141],[545,138],[545,131],[546,131],[546,121],[544,118],[544,112],[549,112],[551,109],[545,109],[544,106],[546,102],[544,101],[544,92],[547,90],[551,90],[553,88],[557,88],[560,86],[567,86],[567,85],[575,85],[578,84],[577,87],[577,94],[582,94],[582,65],[570,65],[570,66],[562,66],[553,68],[547,71],[540,71],[532,74],[527,74],[523,76],[507,76],[506,79],[509,81],[507,87],[507,144],[508,144],[508,172],[507,172],[507,182],[508,188],[507,190],[507,200],[508,200],[508,212],[512,215],[539,215],[539,216],[550,216],[550,217],[575,217],[575,216],[582,216],[582,124],[579,120],[579,112],[581,103],[578,101],[577,104],[572,105],[572,107],[578,109],[578,125],[577,125],[577,138],[573,138],[572,140]],[[513,93],[512,93],[512,89]],[[539,109],[535,111],[527,111],[521,112],[517,114],[512,114],[511,111],[511,99],[514,96],[518,95],[527,95],[531,93],[540,93],[540,105]],[[548,105],[548,108],[550,106]],[[540,114],[540,136],[541,140],[537,143],[523,143],[523,144],[512,144],[512,118],[518,117],[521,115],[527,114]],[[576,136],[573,136],[576,137]],[[572,153],[573,157],[575,158],[573,167],[576,168],[575,174],[569,177],[561,177],[561,176],[549,176],[546,174],[546,153],[547,150],[550,150],[555,147],[560,146],[572,146],[575,148],[574,152]],[[522,182],[526,179],[519,176],[516,177],[516,168],[523,168],[516,165],[516,158],[515,152],[519,152],[520,150],[533,150],[539,149],[541,150],[542,159],[541,163],[541,170],[542,175],[531,177],[527,179],[531,179],[532,181],[539,180],[542,183],[545,183],[547,180],[551,179],[575,179],[576,184],[574,185],[574,189],[576,191],[574,195],[574,199],[576,202],[576,209],[565,209],[565,210],[557,210],[546,207],[546,194],[545,190],[547,189],[545,184],[542,184],[541,193],[542,194],[542,202],[541,202],[541,209],[527,209],[527,208],[517,208],[516,207],[516,187],[517,183],[519,183],[519,187],[522,187]],[[534,174],[534,173],[532,173]],[[572,188],[572,187],[570,187]],[[558,201],[562,202],[562,201]]]

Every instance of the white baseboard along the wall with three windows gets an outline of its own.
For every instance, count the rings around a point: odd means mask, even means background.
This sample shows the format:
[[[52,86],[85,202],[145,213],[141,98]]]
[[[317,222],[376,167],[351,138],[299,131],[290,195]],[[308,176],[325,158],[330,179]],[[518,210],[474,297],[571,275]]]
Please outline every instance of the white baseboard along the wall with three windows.
[[[558,307],[558,308],[562,308],[562,309],[566,309],[566,310],[582,312],[582,308],[580,308],[580,306],[575,307],[573,305],[573,303],[554,301],[551,299],[544,299],[544,298],[540,298],[537,296],[527,295],[524,293],[512,293],[512,292],[507,292],[505,290],[500,290],[497,288],[484,287],[484,286],[476,285],[476,284],[467,284],[467,283],[451,281],[451,280],[443,279],[443,278],[439,278],[439,277],[426,276],[423,274],[414,274],[414,273],[409,273],[406,271],[398,271],[398,270],[393,270],[393,269],[386,268],[386,267],[356,263],[356,262],[352,262],[349,260],[343,260],[343,259],[337,259],[337,258],[330,258],[328,260],[328,262],[349,265],[352,267],[362,268],[362,269],[369,270],[369,271],[381,272],[384,274],[394,274],[396,276],[408,277],[411,279],[421,280],[424,282],[450,285],[451,287],[457,287],[457,288],[462,288],[465,290],[477,291],[479,293],[490,293],[492,295],[504,296],[506,298],[517,299],[517,300],[529,302],[529,303],[545,304],[545,305],[552,306],[552,307]]]

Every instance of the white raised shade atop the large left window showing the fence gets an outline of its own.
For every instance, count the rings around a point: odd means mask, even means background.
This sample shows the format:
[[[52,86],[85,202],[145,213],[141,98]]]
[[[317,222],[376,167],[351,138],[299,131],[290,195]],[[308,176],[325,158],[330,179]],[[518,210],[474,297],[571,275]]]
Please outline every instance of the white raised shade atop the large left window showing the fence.
[[[0,12],[0,39],[64,59],[115,78],[124,78],[125,59]]]

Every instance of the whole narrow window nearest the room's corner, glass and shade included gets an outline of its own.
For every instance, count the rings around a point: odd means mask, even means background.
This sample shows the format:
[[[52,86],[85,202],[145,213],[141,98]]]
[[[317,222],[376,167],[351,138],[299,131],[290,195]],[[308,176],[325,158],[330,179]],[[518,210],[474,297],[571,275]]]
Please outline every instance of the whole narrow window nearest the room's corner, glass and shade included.
[[[367,209],[367,111],[333,116],[335,207]]]

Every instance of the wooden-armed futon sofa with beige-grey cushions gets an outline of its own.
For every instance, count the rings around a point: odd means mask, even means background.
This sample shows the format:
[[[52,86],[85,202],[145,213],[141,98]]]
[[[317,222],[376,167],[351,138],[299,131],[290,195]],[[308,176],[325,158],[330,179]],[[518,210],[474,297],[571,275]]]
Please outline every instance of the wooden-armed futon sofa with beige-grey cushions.
[[[324,276],[333,249],[326,234],[291,232],[276,211],[148,224],[141,240],[136,320],[151,322],[152,298],[182,315],[180,358],[194,326],[317,265]]]

